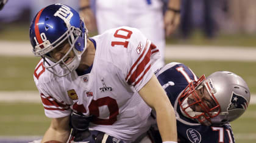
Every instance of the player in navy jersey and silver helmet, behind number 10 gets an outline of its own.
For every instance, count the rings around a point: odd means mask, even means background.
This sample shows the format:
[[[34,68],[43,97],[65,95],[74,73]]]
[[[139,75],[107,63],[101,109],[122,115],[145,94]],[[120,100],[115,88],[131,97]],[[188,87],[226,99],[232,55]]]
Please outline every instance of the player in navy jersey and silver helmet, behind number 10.
[[[241,116],[250,101],[249,88],[240,76],[217,71],[198,79],[178,62],[155,75],[176,111],[178,142],[235,142],[229,122]]]

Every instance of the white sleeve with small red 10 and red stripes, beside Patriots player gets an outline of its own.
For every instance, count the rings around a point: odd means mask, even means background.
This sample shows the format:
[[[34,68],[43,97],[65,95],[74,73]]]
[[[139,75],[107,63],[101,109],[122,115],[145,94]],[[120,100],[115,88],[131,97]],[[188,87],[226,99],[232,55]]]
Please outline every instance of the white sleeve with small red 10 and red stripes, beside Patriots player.
[[[110,31],[114,33],[112,47],[125,49],[119,53],[123,56],[119,55],[118,67],[123,67],[127,84],[139,91],[154,74],[151,66],[160,58],[159,50],[137,28],[118,27]]]

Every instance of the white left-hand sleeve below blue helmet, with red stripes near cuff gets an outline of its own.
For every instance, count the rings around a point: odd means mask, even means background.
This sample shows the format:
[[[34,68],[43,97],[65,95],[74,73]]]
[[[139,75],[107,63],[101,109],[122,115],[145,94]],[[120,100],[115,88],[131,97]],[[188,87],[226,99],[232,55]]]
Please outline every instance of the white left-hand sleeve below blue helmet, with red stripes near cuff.
[[[34,71],[34,81],[40,93],[44,113],[48,118],[60,118],[71,113],[69,99],[59,96],[62,93],[59,84],[51,76],[52,74],[43,67],[43,59],[38,63]]]

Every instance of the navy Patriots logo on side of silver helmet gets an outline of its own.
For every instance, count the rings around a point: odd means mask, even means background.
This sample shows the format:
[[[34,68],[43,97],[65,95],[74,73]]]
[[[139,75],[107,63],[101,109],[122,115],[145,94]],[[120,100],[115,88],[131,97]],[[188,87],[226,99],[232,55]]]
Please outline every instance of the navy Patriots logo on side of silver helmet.
[[[230,99],[229,107],[227,107],[227,110],[235,110],[235,109],[242,109],[246,110],[248,107],[248,101],[241,95],[238,95],[234,92],[232,92],[232,98]]]

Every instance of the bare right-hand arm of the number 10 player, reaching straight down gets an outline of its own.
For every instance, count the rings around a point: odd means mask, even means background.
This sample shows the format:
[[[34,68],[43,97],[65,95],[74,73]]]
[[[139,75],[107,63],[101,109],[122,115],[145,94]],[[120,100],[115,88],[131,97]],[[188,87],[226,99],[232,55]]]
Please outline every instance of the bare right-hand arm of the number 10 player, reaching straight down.
[[[174,108],[155,75],[139,91],[141,98],[157,113],[157,125],[162,141],[177,142],[177,127]]]

